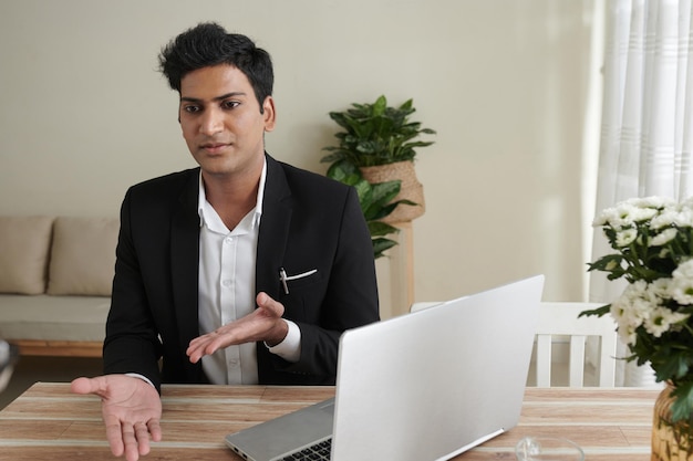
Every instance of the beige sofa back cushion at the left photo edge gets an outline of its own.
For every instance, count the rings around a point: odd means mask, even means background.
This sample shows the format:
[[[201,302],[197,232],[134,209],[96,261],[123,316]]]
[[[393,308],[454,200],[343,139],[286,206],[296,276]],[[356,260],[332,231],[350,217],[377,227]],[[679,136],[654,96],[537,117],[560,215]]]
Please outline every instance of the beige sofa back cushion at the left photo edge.
[[[45,292],[50,217],[0,217],[0,293]]]

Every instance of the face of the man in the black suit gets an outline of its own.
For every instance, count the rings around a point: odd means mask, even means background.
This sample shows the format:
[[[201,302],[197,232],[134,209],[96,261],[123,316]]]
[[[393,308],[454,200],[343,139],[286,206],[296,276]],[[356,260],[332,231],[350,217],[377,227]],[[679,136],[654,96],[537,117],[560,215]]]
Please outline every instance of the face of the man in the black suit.
[[[248,77],[221,64],[203,67],[180,81],[180,128],[193,157],[210,176],[257,171],[265,155],[263,134],[275,128],[275,103],[263,112]]]

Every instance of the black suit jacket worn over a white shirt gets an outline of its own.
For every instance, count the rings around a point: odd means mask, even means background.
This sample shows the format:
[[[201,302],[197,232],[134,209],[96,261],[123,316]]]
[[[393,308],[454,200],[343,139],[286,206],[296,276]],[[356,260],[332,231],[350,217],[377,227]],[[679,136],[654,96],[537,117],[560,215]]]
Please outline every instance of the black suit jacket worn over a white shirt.
[[[379,319],[371,238],[355,190],[267,157],[256,290],[281,302],[301,329],[290,364],[258,343],[260,384],[333,384],[339,337]],[[163,383],[205,383],[185,354],[198,332],[199,168],[128,189],[121,209],[106,374]],[[313,269],[308,277],[279,279]],[[161,358],[161,374],[159,374]]]

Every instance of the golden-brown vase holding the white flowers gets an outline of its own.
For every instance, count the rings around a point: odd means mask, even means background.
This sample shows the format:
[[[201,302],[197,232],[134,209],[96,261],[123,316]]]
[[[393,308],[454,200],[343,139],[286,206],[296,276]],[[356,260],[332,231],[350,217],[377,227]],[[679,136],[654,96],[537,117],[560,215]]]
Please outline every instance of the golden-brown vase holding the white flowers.
[[[689,420],[671,422],[671,392],[668,384],[654,402],[651,461],[693,461],[693,428]]]

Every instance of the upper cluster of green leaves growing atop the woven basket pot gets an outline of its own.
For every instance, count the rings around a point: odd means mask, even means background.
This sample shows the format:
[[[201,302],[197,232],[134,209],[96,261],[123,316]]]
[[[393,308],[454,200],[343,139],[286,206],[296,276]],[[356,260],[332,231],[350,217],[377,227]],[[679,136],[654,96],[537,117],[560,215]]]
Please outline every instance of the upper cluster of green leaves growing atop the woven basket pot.
[[[422,128],[420,122],[410,122],[415,112],[413,99],[400,107],[387,106],[385,96],[373,104],[352,104],[344,112],[330,112],[330,118],[344,132],[334,136],[339,146],[324,147],[331,151],[322,161],[348,160],[356,167],[413,161],[416,149],[431,146],[433,142],[414,140],[422,134],[434,135],[431,128]]]

